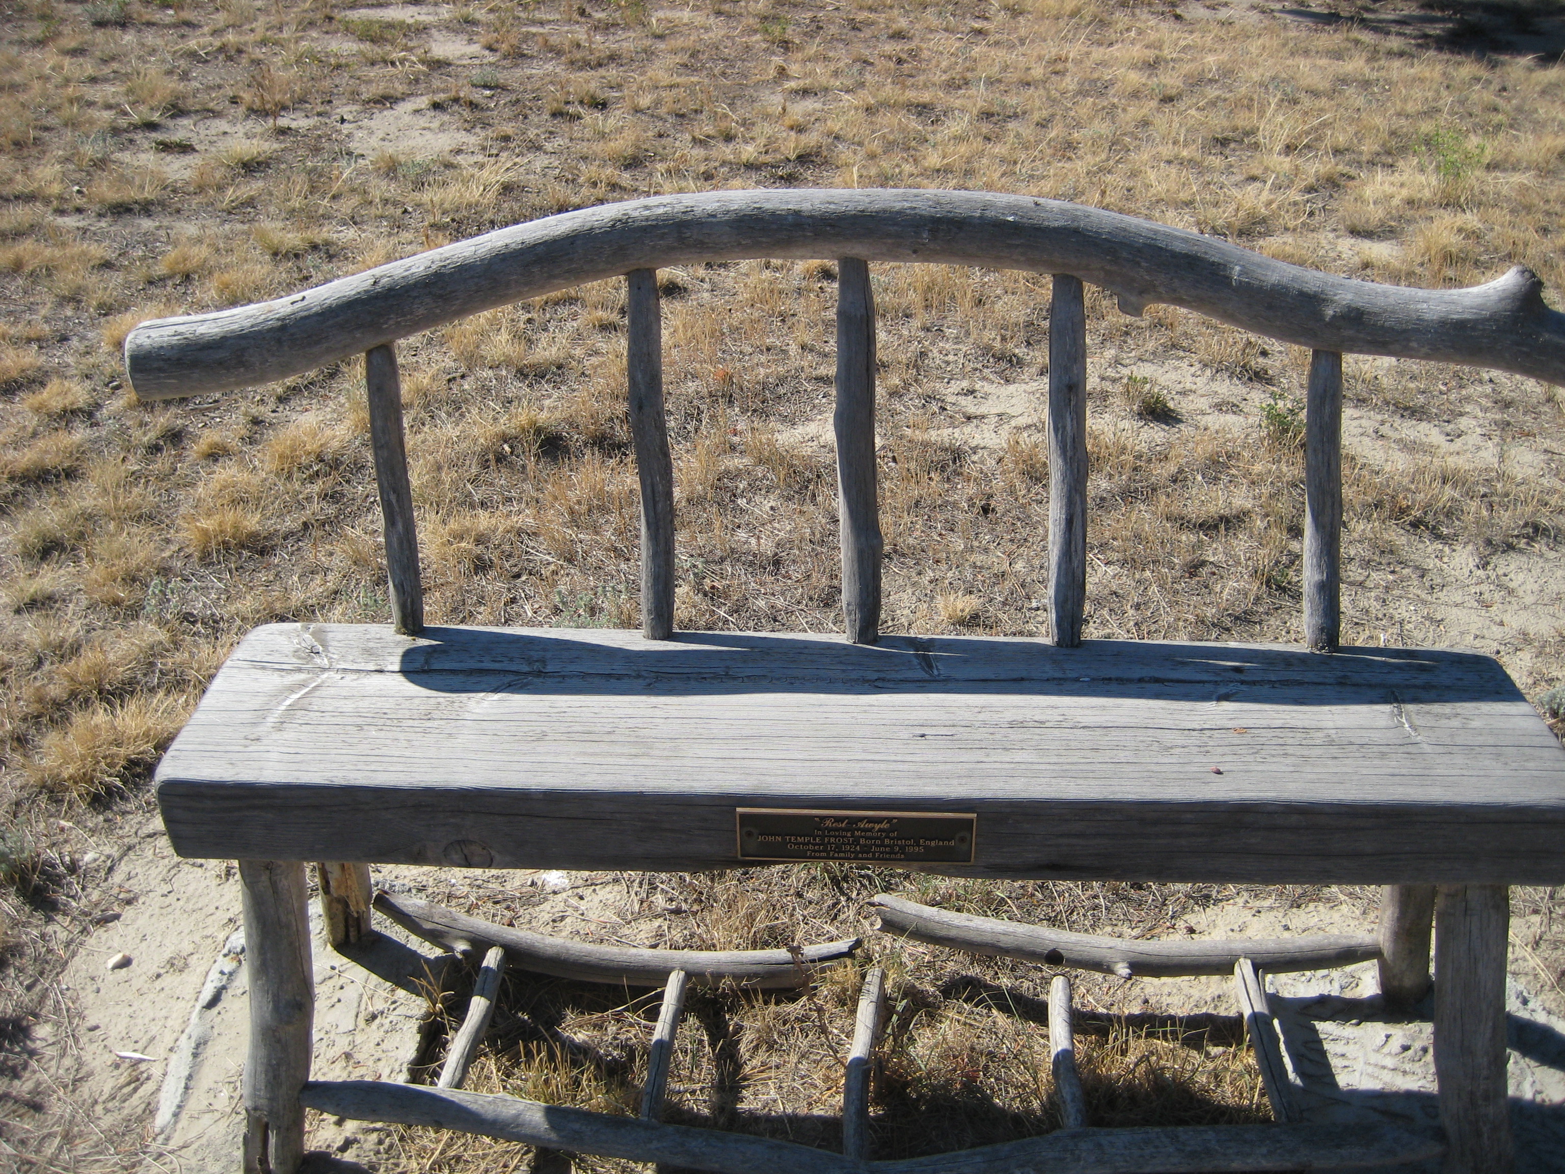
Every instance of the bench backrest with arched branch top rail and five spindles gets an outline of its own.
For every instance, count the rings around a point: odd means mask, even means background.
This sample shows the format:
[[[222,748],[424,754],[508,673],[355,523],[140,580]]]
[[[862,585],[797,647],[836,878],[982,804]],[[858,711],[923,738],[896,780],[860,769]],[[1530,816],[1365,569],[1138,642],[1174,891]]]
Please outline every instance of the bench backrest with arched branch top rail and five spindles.
[[[751,258],[836,260],[837,487],[848,639],[880,628],[875,305],[869,261],[1053,274],[1049,319],[1049,564],[1053,643],[1081,640],[1086,593],[1083,282],[1139,315],[1169,304],[1313,351],[1305,396],[1304,625],[1340,634],[1344,352],[1424,358],[1565,384],[1565,315],[1524,268],[1468,290],[1333,277],[1199,233],[1060,200],[959,191],[782,189],[659,196],[549,216],[271,302],[163,318],[125,340],[142,399],[252,387],[366,355],[371,443],[398,631],[423,628],[423,590],[393,344],[585,282],[628,280],[629,415],[642,485],[642,628],[673,631],[673,463],[664,420],[656,269]]]

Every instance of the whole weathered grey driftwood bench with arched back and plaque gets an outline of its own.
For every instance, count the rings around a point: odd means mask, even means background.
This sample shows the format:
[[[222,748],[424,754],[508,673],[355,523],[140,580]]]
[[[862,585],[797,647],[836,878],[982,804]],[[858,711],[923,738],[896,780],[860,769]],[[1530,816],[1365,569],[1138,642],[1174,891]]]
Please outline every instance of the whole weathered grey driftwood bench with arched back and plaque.
[[[839,263],[845,640],[673,631],[673,473],[656,269],[756,257]],[[1055,275],[1050,642],[878,631],[869,261]],[[617,275],[629,285],[642,632],[426,626],[396,340]],[[1083,280],[1117,294],[1128,313],[1174,304],[1313,351],[1305,645],[1081,639]],[[715,193],[552,216],[261,305],[146,322],[125,351],[142,399],[249,387],[366,355],[394,625],[254,631],[158,769],[175,848],[241,859],[254,1030],[249,1169],[291,1174],[302,1152],[302,1105],[732,1174],[1293,1169],[1430,1152],[1427,1140],[1282,1124],[1279,1111],[1275,1127],[1067,1129],[992,1151],[869,1163],[861,1124],[850,1129],[859,1141],[837,1157],[664,1125],[645,1105],[645,1119],[632,1121],[482,1097],[457,1089],[460,1074],[444,1089],[307,1083],[304,861],[335,861],[321,866],[321,891],[341,941],[368,927],[368,862],[682,870],[831,858],[970,877],[1385,884],[1377,939],[1213,944],[1194,955],[973,927],[898,908],[895,899],[880,913],[897,931],[1053,966],[1235,969],[1247,1019],[1265,1011],[1257,966],[1377,958],[1385,997],[1416,1000],[1429,985],[1434,920],[1444,1169],[1512,1168],[1506,886],[1565,880],[1565,753],[1490,657],[1338,646],[1340,432],[1343,352],[1565,382],[1565,316],[1545,305],[1526,269],[1473,290],[1405,290],[1055,200]],[[557,953],[577,963],[581,950],[548,939],[499,942],[430,916],[423,922],[437,941],[488,949],[490,971],[505,958],[548,969]],[[847,947],[817,947],[812,958]],[[715,974],[803,981],[809,961],[689,955],[581,964],[668,981],[671,1032],[684,981]],[[872,994],[869,1010],[861,1007],[861,1061],[873,1044]],[[479,1025],[465,1036],[482,1032],[487,997],[474,1000]],[[1058,1030],[1067,1039],[1067,991],[1063,999]],[[473,1044],[462,1044],[468,1055]],[[1265,1052],[1261,1060],[1265,1069]],[[1066,1082],[1067,1068],[1056,1064]]]

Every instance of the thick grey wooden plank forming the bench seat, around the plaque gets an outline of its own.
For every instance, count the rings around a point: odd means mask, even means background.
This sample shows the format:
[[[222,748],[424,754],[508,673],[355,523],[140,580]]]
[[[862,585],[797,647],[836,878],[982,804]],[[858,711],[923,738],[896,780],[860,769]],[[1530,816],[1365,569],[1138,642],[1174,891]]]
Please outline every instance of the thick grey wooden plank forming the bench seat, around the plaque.
[[[1462,651],[268,625],[156,780],[185,856],[732,867],[776,806],[977,812],[962,875],[1565,881],[1565,751]]]

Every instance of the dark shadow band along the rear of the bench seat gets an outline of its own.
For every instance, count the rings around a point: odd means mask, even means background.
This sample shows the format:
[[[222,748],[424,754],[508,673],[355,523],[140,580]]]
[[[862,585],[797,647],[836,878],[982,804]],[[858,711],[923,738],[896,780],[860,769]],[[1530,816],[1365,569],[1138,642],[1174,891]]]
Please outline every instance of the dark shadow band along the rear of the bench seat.
[[[332,657],[330,634],[315,639]],[[635,637],[632,637],[635,639]],[[970,693],[1269,704],[1523,701],[1488,656],[1454,650],[676,632],[631,645],[507,628],[426,628],[398,672],[441,693],[721,697]]]

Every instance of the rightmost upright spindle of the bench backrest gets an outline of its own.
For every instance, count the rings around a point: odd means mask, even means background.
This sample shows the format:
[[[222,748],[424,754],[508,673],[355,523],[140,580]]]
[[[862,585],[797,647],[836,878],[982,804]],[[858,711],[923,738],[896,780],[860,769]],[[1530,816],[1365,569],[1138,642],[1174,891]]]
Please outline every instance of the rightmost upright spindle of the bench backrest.
[[[1310,354],[1304,401],[1304,642],[1335,653],[1341,639],[1343,357]]]

